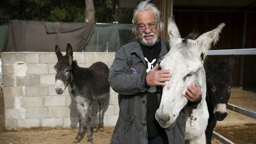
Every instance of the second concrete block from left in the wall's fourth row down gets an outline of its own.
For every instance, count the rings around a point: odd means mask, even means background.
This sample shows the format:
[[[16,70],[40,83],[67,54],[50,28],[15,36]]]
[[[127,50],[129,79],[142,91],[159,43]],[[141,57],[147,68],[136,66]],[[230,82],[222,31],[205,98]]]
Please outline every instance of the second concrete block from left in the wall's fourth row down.
[[[25,96],[47,96],[47,86],[28,86],[25,87]]]

